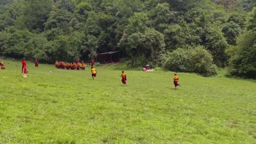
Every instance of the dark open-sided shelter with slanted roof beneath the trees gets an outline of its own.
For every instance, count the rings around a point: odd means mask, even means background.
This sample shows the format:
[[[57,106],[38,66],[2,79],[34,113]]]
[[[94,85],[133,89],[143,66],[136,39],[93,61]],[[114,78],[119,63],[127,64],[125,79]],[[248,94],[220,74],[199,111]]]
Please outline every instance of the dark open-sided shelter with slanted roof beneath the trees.
[[[97,61],[100,63],[114,63],[119,62],[120,60],[120,51],[110,51],[105,53],[97,54]]]

